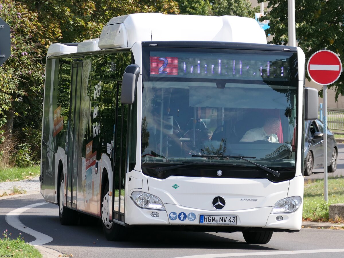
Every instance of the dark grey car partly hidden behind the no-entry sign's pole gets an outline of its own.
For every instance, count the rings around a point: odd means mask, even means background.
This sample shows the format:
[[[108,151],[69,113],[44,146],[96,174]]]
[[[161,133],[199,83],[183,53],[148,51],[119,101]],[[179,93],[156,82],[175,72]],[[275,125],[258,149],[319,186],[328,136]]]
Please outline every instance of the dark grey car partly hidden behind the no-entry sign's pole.
[[[313,169],[324,166],[324,125],[319,119],[305,121],[304,175],[311,175]],[[327,172],[335,172],[338,157],[337,142],[333,133],[327,130]]]

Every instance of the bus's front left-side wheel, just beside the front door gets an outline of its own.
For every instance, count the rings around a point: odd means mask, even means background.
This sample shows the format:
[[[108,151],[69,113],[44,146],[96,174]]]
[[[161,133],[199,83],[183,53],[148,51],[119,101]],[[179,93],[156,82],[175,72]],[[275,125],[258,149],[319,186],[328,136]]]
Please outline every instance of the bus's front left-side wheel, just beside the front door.
[[[121,241],[125,237],[125,227],[117,223],[109,221],[109,182],[106,183],[104,193],[101,198],[101,225],[103,226],[103,232],[107,240],[109,241]]]

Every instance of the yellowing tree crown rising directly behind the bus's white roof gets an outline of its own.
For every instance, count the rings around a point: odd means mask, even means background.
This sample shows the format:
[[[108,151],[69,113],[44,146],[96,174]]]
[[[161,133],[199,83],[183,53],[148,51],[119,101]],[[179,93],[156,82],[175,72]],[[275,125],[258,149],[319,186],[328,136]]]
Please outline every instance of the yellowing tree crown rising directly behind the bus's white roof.
[[[139,12],[179,13],[178,4],[169,0],[26,0],[45,28],[53,24],[61,31],[58,42],[81,42],[97,38],[112,18]]]

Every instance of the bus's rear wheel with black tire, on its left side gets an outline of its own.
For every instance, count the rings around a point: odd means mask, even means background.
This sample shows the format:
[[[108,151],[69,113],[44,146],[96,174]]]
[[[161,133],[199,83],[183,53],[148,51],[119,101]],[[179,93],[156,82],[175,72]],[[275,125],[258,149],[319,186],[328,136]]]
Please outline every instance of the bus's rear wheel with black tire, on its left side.
[[[58,214],[60,215],[60,223],[62,225],[76,225],[78,223],[78,214],[76,211],[67,208],[64,206],[64,179],[63,179],[63,172],[60,176],[60,181],[58,184],[60,187],[58,188]]]

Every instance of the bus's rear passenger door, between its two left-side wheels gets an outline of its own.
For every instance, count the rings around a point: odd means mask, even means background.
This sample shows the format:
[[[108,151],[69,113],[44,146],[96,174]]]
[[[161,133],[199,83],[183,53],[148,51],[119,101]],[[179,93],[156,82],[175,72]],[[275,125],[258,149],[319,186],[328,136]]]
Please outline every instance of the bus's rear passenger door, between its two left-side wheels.
[[[68,118],[68,154],[67,154],[67,207],[76,209],[78,181],[78,131],[80,115],[80,90],[82,63],[73,63],[71,82],[71,105]]]

